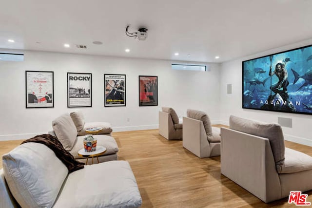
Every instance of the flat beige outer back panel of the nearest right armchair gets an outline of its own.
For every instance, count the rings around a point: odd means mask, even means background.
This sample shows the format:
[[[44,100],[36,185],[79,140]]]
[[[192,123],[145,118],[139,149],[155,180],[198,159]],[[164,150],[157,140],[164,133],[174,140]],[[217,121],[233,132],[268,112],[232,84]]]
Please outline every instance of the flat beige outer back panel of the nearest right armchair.
[[[221,128],[221,173],[266,203],[281,198],[267,138]]]

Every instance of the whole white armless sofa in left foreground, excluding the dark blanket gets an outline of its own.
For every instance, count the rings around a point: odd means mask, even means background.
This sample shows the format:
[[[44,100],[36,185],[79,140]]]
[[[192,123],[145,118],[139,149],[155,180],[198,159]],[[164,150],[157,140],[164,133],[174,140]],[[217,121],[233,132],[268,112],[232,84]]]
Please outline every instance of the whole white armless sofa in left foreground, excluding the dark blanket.
[[[2,162],[0,208],[134,208],[142,203],[126,161],[68,173],[54,151],[29,142],[3,155]]]

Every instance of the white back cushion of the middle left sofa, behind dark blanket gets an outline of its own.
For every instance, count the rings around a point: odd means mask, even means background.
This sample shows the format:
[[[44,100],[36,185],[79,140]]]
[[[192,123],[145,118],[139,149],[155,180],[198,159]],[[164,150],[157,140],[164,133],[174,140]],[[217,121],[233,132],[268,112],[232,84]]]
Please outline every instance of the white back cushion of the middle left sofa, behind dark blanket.
[[[70,151],[77,137],[76,126],[69,114],[63,114],[52,121],[53,130],[65,150]]]

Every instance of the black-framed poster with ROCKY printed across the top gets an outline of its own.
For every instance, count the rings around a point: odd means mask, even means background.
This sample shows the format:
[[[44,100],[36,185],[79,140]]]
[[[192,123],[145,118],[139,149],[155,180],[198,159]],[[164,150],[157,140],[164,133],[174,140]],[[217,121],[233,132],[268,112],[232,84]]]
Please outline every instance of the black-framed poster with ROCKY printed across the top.
[[[92,107],[92,74],[67,73],[67,107]]]

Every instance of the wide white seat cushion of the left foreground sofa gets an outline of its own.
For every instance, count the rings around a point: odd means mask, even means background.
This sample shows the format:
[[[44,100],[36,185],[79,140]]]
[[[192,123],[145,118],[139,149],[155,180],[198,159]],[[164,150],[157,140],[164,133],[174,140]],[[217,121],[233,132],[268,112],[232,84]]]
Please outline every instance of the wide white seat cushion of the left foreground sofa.
[[[134,208],[141,203],[129,163],[109,161],[70,173],[54,208]]]

